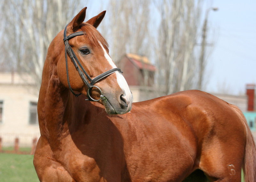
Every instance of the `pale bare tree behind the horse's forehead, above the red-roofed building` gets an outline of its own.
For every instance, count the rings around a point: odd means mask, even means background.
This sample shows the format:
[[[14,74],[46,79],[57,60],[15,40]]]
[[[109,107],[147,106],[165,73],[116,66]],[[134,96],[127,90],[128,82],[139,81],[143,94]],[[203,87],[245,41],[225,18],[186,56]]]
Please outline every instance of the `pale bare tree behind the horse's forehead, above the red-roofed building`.
[[[148,55],[149,5],[148,0],[109,1],[110,19],[103,22],[101,32],[111,46],[110,55],[115,62],[125,53]]]

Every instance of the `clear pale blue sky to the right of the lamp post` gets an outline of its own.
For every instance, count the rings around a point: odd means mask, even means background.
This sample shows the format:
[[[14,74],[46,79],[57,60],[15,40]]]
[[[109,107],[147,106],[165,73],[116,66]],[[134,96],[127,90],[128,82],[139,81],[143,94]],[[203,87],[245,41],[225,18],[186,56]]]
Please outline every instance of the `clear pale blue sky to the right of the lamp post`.
[[[206,91],[244,95],[246,84],[256,83],[256,1],[214,0],[212,7],[219,10],[208,16],[208,43],[214,46]]]

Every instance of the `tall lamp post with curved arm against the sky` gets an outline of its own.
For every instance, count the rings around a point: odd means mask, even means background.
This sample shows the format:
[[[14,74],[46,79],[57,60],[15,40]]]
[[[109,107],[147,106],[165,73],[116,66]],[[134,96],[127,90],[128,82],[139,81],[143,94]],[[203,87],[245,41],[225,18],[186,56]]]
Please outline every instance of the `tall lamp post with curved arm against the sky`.
[[[201,43],[201,54],[199,59],[199,90],[202,90],[202,83],[203,83],[203,75],[204,75],[204,54],[205,54],[205,46],[206,46],[206,32],[207,32],[207,20],[208,20],[208,14],[210,11],[218,11],[217,7],[208,8],[205,13],[204,18],[204,26],[203,26],[203,34],[202,34],[202,43]]]

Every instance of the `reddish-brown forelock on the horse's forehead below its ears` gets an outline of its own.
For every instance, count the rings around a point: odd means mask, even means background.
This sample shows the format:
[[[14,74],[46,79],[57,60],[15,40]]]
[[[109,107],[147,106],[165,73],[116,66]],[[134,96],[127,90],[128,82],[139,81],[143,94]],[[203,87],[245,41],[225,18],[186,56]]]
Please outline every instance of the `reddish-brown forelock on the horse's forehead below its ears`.
[[[92,45],[98,46],[101,43],[105,49],[108,49],[108,42],[106,41],[106,39],[91,24],[83,23],[81,25],[81,29],[82,31],[86,32],[85,36],[87,36],[88,40],[92,43]]]

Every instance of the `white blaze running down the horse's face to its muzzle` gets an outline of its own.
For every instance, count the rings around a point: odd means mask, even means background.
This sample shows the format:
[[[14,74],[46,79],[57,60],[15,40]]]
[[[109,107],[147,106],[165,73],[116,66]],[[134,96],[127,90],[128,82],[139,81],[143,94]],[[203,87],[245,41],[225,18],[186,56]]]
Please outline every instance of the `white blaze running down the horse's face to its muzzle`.
[[[100,46],[102,47],[102,49],[104,51],[104,56],[108,60],[108,63],[111,65],[111,67],[112,68],[117,68],[116,64],[111,59],[111,57],[108,55],[106,49],[102,46],[101,43],[100,43]],[[129,88],[126,80],[124,79],[124,76],[120,72],[114,72],[113,74],[116,74],[117,83],[118,83],[119,87],[124,91],[125,97],[128,97],[128,99],[130,99],[130,97],[132,96],[132,93],[130,91],[130,88]]]

